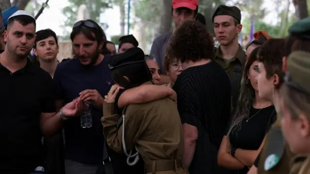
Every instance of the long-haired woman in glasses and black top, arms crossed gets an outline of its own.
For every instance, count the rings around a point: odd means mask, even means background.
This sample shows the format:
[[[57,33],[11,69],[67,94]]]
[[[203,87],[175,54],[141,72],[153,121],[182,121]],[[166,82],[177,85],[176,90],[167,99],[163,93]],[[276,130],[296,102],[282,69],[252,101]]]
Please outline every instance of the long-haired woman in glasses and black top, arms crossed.
[[[248,57],[237,107],[217,155],[218,165],[230,169],[230,174],[247,174],[263,146],[266,131],[275,120],[272,103],[258,96],[258,48]]]

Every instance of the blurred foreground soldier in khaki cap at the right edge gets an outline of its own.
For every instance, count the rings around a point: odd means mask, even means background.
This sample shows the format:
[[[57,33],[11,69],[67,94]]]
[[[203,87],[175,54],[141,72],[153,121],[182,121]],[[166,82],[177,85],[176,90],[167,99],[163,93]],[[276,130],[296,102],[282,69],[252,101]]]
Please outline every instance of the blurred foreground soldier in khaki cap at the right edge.
[[[283,101],[279,114],[283,135],[295,154],[310,155],[310,53],[293,52],[280,90]],[[307,132],[305,132],[307,131]],[[290,174],[310,174],[310,158],[296,157]]]

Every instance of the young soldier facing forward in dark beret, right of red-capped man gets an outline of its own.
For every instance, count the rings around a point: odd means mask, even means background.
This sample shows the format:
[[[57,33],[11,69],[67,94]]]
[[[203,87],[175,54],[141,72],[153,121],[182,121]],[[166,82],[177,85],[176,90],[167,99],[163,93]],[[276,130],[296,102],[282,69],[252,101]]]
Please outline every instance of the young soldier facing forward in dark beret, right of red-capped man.
[[[246,54],[238,43],[238,34],[242,29],[240,24],[241,11],[235,6],[220,5],[214,12],[212,21],[217,41],[221,44],[215,48],[214,60],[224,68],[231,79],[232,104],[234,107],[239,96],[242,72],[246,63]],[[236,32],[233,33],[233,30]],[[225,57],[221,50],[223,46],[235,54],[230,58]],[[237,50],[234,50],[236,48]]]

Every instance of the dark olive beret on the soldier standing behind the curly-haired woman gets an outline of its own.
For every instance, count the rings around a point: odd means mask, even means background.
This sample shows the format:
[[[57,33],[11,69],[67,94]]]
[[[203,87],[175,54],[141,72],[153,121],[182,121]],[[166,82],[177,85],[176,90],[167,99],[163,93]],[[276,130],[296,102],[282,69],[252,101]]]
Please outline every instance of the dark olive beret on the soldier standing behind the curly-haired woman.
[[[214,17],[218,15],[230,15],[235,18],[238,22],[241,22],[241,11],[236,6],[227,6],[227,5],[220,5],[215,10],[212,16],[212,22],[214,23]]]

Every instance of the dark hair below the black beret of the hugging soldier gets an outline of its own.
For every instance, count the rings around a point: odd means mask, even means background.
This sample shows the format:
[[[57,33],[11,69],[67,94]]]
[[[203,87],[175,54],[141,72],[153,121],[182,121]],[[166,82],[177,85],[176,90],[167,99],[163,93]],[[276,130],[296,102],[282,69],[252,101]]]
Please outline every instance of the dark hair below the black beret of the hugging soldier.
[[[129,89],[152,80],[152,74],[145,62],[129,64],[111,71],[112,79],[120,86]],[[126,76],[128,80],[124,78]]]

